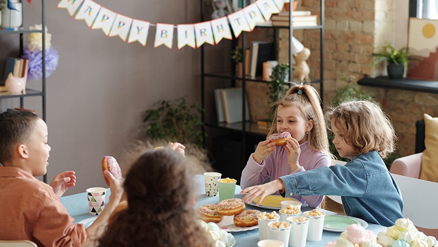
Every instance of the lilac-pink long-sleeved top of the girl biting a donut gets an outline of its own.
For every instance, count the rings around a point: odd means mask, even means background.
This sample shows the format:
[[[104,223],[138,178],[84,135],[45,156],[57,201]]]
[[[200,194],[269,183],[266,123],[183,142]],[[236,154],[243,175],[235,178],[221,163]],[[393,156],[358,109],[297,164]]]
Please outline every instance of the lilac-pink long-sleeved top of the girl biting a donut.
[[[308,142],[304,142],[300,145],[301,153],[298,158],[300,168],[291,172],[291,168],[288,164],[288,155],[283,146],[275,148],[274,152],[266,156],[261,164],[258,164],[251,154],[245,169],[242,171],[242,177],[240,178],[240,187],[245,189],[247,187],[260,185],[268,177],[271,181],[288,174],[296,172],[312,170],[319,167],[328,167],[331,165],[331,158],[328,154],[323,152],[316,152],[310,149]],[[318,178],[315,177],[315,180]],[[280,193],[276,193],[280,194]],[[316,208],[324,199],[324,195],[312,195],[312,196],[292,196],[309,205],[311,208]]]

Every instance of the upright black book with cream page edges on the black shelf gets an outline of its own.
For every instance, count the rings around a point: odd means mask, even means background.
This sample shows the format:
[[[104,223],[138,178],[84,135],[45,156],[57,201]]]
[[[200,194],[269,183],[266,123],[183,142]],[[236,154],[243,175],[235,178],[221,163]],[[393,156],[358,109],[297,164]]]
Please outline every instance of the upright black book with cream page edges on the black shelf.
[[[263,72],[263,62],[275,60],[273,41],[253,41],[250,48],[249,76],[255,78]]]

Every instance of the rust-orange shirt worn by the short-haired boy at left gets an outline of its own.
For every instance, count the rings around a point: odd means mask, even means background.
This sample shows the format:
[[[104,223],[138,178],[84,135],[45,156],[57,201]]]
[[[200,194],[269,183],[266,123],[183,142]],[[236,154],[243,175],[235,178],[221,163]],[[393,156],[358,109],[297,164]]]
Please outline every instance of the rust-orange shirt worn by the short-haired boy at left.
[[[0,239],[80,247],[86,238],[85,226],[73,224],[52,187],[27,171],[0,166]]]

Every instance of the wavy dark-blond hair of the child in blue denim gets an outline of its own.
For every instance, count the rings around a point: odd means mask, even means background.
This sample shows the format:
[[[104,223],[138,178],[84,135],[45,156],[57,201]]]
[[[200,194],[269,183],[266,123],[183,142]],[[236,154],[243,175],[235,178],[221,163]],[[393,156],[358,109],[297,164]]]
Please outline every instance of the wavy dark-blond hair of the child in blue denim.
[[[396,149],[396,134],[389,117],[376,102],[365,100],[346,101],[326,114],[331,122],[344,133],[344,140],[361,153],[377,151],[385,158]],[[331,129],[331,128],[330,128]]]

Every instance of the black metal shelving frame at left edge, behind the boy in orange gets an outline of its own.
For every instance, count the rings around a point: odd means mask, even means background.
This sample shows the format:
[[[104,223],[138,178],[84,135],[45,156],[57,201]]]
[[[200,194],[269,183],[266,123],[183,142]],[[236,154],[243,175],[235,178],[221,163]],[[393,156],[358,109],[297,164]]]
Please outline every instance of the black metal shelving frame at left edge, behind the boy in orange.
[[[21,2],[21,0],[20,0]],[[21,9],[23,11],[23,9]],[[24,13],[22,14],[22,17],[24,16]],[[28,33],[41,33],[42,34],[42,43],[46,43],[46,33],[44,32],[44,27],[46,26],[46,0],[41,0],[41,24],[42,24],[42,30],[29,30],[27,28],[23,28],[23,18],[21,18],[21,27],[15,29],[15,30],[8,30],[8,29],[0,29],[0,35],[13,35],[18,34],[19,35],[19,46],[20,46],[20,57],[24,53],[24,44],[23,44],[23,38],[24,34]],[[41,118],[46,121],[46,46],[42,45],[42,78],[41,78],[41,91],[34,90],[34,89],[28,89],[26,88],[25,92],[23,93],[9,93],[9,92],[0,92],[0,99],[3,98],[20,98],[20,107],[24,107],[24,98],[30,97],[30,96],[40,96],[41,97],[41,104],[42,104],[42,116]],[[44,174],[43,181],[47,183],[47,174]]]

